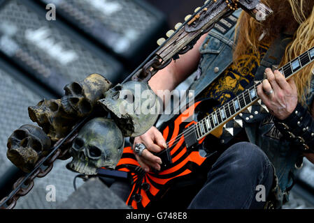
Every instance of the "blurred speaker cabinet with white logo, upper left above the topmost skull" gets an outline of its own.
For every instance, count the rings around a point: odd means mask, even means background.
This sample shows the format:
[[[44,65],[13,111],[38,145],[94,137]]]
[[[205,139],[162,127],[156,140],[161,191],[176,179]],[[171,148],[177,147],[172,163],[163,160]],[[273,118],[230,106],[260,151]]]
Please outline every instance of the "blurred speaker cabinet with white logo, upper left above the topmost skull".
[[[122,65],[97,51],[47,11],[27,0],[4,1],[0,8],[0,54],[56,95],[69,82],[99,73],[111,82],[122,78]]]

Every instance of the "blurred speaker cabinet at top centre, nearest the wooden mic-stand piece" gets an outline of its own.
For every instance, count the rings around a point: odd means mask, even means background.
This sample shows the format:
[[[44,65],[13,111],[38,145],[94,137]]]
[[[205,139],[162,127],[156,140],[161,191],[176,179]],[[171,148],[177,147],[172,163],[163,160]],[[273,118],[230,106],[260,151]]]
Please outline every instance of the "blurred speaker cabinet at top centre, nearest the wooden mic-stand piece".
[[[62,19],[97,40],[132,66],[142,62],[164,35],[166,17],[143,0],[36,0],[43,8],[55,4]]]

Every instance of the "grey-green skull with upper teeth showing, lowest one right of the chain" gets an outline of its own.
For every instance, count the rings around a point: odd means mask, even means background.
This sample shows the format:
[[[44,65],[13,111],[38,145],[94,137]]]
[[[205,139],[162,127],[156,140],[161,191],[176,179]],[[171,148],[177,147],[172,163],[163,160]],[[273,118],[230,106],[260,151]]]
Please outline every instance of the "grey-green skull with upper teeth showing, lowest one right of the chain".
[[[66,165],[72,171],[86,175],[97,174],[100,167],[115,169],[124,146],[122,132],[108,118],[93,118],[78,132],[70,154],[73,160]]]

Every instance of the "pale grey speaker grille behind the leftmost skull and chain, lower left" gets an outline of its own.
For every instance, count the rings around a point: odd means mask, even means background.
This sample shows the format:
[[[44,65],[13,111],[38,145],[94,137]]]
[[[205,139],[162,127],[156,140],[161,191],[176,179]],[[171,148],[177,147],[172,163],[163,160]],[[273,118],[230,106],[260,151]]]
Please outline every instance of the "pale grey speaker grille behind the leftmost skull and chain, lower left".
[[[7,141],[10,134],[21,125],[33,123],[28,116],[27,107],[36,105],[42,97],[32,92],[28,87],[16,81],[8,72],[0,70],[0,179],[1,176],[13,164],[6,157]],[[57,160],[54,168],[45,178],[36,178],[34,188],[27,196],[17,201],[16,208],[55,208],[66,201],[74,192],[73,178],[75,173],[66,169],[69,162]],[[78,185],[82,182],[78,180]],[[48,191],[46,187],[54,185],[56,189],[56,201],[49,202],[46,199]]]

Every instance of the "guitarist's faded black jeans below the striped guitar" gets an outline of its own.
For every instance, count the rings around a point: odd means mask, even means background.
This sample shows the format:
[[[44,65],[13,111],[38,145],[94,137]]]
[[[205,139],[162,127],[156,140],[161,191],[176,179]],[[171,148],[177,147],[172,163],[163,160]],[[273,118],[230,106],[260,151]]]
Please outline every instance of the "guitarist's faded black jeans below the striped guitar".
[[[241,142],[220,155],[188,208],[264,208],[266,202],[260,201],[263,196],[259,194],[264,192],[267,198],[272,185],[273,167],[266,154],[254,144]],[[113,183],[110,189],[124,201],[130,191],[122,182]]]

